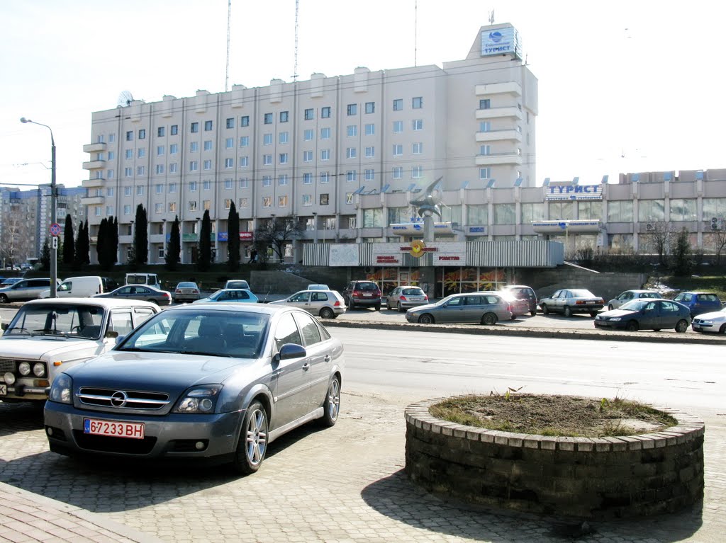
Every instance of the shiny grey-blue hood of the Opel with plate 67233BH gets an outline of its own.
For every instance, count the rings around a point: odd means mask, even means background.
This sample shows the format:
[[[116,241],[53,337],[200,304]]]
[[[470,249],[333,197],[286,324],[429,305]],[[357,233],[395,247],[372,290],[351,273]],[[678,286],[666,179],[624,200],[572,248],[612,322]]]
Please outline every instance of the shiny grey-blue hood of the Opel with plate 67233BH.
[[[257,359],[158,352],[110,351],[68,370],[74,386],[184,391],[196,384],[224,383],[249,371]]]

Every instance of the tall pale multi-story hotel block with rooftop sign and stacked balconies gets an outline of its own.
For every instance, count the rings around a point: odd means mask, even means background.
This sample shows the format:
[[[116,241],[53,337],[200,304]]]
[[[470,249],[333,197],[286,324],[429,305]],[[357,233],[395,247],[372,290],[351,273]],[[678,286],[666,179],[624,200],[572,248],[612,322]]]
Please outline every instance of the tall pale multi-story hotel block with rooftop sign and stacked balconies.
[[[181,221],[182,262],[195,260],[210,212],[226,260],[234,202],[243,240],[261,220],[295,217],[311,240],[362,241],[360,199],[443,190],[534,186],[537,79],[511,25],[482,27],[467,57],[94,112],[83,167],[91,245],[118,217],[121,262],[136,207],[147,210],[149,262],[163,262]],[[95,254],[91,247],[91,257]]]

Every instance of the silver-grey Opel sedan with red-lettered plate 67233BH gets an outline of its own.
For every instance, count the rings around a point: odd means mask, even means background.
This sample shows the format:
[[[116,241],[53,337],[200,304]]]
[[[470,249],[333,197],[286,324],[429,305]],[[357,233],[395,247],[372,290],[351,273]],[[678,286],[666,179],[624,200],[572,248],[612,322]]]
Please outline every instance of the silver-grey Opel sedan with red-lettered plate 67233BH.
[[[285,432],[335,424],[343,367],[340,341],[308,312],[171,307],[56,376],[46,436],[63,455],[196,459],[253,473]]]

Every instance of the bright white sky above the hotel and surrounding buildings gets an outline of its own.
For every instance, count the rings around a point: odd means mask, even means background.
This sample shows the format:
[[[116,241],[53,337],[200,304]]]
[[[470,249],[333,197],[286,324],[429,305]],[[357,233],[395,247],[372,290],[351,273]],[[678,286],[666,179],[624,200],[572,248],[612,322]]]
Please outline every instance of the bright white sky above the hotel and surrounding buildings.
[[[295,0],[3,0],[0,185],[80,186],[91,113],[295,72]],[[726,2],[299,0],[298,80],[464,59],[509,22],[539,80],[536,180],[726,167]],[[227,77],[229,73],[229,77]]]

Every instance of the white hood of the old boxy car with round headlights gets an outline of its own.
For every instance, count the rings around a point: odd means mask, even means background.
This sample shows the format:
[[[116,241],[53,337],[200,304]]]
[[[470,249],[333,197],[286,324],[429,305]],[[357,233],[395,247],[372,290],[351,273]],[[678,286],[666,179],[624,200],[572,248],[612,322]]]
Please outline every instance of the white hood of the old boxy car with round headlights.
[[[0,357],[37,358],[38,360],[76,360],[98,355],[105,348],[98,340],[53,336],[4,336],[0,339]]]

